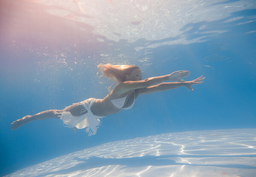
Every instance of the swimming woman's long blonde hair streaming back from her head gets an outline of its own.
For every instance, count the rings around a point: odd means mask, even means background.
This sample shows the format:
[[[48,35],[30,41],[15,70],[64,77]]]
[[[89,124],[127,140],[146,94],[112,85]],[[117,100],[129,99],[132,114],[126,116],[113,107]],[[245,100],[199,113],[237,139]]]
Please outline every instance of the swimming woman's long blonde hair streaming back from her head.
[[[115,80],[119,83],[125,82],[126,75],[131,74],[131,71],[134,69],[140,69],[139,66],[135,65],[111,65],[110,63],[105,65],[99,64],[97,67],[99,71],[102,72],[102,76]]]

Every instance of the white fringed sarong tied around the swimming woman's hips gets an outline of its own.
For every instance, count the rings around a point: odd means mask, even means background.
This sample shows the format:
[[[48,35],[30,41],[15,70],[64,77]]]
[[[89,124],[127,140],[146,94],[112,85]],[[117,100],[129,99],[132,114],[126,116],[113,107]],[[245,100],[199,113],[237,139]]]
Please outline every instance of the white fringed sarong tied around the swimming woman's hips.
[[[99,118],[102,118],[101,116],[94,115],[90,109],[90,107],[96,100],[97,99],[95,98],[89,98],[80,102],[81,105],[83,105],[84,108],[87,110],[86,114],[83,114],[81,116],[73,116],[72,114],[70,114],[70,112],[65,111],[61,113],[60,119],[63,121],[64,124],[68,125],[69,127],[76,126],[76,128],[79,129],[87,127],[86,132],[88,133],[88,136],[96,134],[97,128],[99,127],[100,123]]]

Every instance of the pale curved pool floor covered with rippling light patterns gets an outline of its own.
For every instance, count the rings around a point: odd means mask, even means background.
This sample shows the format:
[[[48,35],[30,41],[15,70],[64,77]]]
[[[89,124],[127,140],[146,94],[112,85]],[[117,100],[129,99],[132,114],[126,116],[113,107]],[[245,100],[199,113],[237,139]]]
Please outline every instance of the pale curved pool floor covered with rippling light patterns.
[[[256,128],[187,131],[106,143],[6,177],[255,177]]]

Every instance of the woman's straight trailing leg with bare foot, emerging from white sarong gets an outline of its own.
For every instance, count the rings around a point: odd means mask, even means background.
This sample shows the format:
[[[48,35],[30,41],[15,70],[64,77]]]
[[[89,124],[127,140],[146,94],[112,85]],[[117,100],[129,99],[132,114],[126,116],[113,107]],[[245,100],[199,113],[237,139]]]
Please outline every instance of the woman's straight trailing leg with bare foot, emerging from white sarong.
[[[14,121],[11,124],[12,130],[15,130],[19,128],[20,126],[23,126],[26,123],[29,123],[33,120],[43,120],[43,119],[49,119],[49,118],[59,118],[61,116],[61,112],[63,111],[69,111],[71,115],[73,116],[81,116],[85,113],[87,113],[87,110],[84,108],[84,106],[81,105],[81,103],[76,103],[71,106],[68,106],[65,109],[58,110],[58,109],[52,109],[52,110],[47,110],[40,112],[35,115],[27,115],[19,120]]]

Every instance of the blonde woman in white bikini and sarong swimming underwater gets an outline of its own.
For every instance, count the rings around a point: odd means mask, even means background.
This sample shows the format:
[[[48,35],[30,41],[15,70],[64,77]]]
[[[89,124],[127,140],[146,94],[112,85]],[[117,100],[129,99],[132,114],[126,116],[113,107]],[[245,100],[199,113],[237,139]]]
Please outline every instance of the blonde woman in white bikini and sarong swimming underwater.
[[[35,115],[27,115],[11,124],[12,130],[23,126],[32,120],[59,118],[67,126],[76,129],[86,128],[88,135],[96,134],[100,118],[114,114],[122,109],[130,109],[135,99],[142,94],[151,94],[157,91],[171,90],[181,86],[191,87],[203,83],[205,77],[201,76],[192,81],[181,80],[189,76],[189,71],[175,71],[164,76],[150,77],[142,80],[142,73],[138,66],[100,64],[98,69],[104,77],[114,79],[119,84],[103,99],[89,98],[70,105],[62,110],[48,110]],[[173,82],[165,82],[172,80]]]

